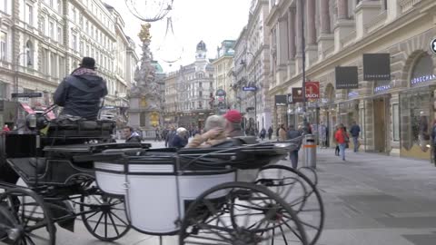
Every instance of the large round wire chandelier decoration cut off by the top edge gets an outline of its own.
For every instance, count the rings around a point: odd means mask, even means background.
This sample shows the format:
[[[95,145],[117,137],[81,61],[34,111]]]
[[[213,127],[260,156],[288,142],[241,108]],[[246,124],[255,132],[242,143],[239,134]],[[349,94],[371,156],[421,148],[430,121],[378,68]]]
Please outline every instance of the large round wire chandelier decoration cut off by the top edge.
[[[173,0],[125,0],[125,5],[136,18],[156,22],[173,9]]]

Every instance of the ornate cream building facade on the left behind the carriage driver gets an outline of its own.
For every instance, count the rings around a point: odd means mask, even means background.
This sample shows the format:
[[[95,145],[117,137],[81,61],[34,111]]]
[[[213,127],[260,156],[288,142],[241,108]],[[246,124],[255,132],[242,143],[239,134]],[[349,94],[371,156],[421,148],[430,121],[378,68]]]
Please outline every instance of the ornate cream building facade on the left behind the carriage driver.
[[[115,104],[127,89],[125,78],[123,85],[117,83],[114,70],[119,59],[115,25],[120,36],[121,24],[116,11],[99,0],[1,1],[0,99],[11,100],[11,93],[40,92],[42,98],[19,101],[48,106],[64,76],[79,66],[83,56],[92,56],[107,82],[106,104]],[[125,47],[121,50],[127,52]],[[118,73],[125,73],[123,62]]]

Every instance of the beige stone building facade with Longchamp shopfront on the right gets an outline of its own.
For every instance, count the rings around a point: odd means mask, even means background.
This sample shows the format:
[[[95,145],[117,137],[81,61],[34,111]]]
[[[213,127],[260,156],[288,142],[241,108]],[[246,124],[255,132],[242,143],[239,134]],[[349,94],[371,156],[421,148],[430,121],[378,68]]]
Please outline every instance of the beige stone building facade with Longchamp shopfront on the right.
[[[360,124],[361,149],[431,159],[435,119],[436,5],[431,0],[270,1],[270,96],[319,81],[321,98],[308,103],[312,125]],[[304,14],[302,15],[302,11]],[[302,45],[301,18],[305,16]],[[362,54],[390,54],[391,80],[364,81]],[[359,88],[336,89],[335,67],[357,66]],[[282,69],[281,69],[282,67]],[[274,110],[276,122],[301,123],[302,104]],[[331,133],[332,140],[332,133]]]

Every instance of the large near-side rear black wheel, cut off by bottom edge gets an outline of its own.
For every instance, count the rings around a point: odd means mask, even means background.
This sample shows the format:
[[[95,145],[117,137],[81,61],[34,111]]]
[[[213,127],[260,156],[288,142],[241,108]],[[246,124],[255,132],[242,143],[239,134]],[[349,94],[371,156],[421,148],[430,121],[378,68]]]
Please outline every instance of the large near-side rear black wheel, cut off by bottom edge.
[[[292,244],[308,244],[300,220],[280,196],[253,183],[228,182],[204,191],[189,206],[179,244],[273,244],[285,234]]]

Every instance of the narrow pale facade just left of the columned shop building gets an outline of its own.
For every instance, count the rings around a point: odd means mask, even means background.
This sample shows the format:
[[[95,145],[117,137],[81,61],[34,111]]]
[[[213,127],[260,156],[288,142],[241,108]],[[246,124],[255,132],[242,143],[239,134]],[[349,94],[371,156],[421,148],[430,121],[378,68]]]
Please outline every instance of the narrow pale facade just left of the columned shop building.
[[[248,24],[235,44],[233,64],[236,77],[233,88],[235,97],[242,103],[245,127],[257,129],[257,132],[272,124],[272,106],[268,96],[270,32],[265,25],[268,13],[268,1],[252,1]],[[246,91],[243,87],[255,89]]]

